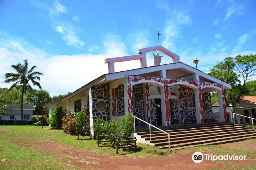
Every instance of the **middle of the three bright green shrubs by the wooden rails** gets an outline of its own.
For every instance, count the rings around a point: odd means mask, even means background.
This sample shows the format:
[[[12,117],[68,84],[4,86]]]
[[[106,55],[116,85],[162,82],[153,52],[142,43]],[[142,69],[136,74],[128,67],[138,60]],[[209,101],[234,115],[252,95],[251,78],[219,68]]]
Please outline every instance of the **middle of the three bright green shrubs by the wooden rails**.
[[[119,130],[118,122],[114,120],[106,122],[103,126],[103,137],[106,141],[109,141],[111,147],[115,146],[115,137]]]

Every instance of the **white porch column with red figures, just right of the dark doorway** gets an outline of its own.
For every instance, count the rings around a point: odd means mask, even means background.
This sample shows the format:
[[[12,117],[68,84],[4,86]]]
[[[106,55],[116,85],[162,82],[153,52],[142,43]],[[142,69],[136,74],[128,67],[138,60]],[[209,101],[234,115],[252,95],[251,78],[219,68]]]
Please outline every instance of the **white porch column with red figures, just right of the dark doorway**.
[[[164,80],[164,87],[161,87],[161,111],[162,111],[162,125],[170,126],[170,101],[168,92],[168,80]]]

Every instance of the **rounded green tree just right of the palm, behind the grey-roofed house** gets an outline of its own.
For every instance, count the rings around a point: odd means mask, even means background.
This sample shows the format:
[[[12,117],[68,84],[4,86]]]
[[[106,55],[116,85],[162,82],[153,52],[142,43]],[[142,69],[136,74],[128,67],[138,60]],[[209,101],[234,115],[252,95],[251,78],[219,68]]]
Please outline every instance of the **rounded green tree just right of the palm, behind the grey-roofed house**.
[[[28,94],[27,100],[30,103],[34,103],[35,115],[42,114],[42,105],[51,101],[51,95],[46,90],[34,90]]]

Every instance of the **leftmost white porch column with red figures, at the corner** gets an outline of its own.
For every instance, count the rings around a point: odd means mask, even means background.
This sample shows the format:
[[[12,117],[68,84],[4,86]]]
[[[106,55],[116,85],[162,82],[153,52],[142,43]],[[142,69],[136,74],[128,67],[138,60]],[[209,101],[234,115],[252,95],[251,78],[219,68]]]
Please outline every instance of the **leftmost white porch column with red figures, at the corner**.
[[[125,115],[130,113],[131,115],[133,114],[133,91],[132,91],[132,85],[131,85],[131,80],[128,80],[125,78],[124,83],[123,83],[123,88],[124,88],[124,105],[125,105]]]

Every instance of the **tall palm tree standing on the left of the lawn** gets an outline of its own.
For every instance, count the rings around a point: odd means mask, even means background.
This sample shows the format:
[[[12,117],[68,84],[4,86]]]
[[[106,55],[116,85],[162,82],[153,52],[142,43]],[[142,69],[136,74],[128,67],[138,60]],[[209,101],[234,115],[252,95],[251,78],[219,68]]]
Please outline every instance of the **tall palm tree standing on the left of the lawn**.
[[[14,87],[16,87],[18,84],[22,85],[22,94],[21,94],[21,120],[23,121],[23,94],[26,93],[26,90],[32,91],[32,87],[28,83],[29,81],[32,82],[34,86],[38,86],[40,89],[42,89],[39,82],[36,82],[35,80],[40,81],[40,77],[38,75],[43,75],[42,73],[38,71],[34,71],[34,68],[36,66],[34,65],[31,67],[30,70],[28,70],[28,60],[24,60],[24,64],[18,63],[17,65],[11,65],[11,67],[16,71],[16,73],[6,73],[5,74],[5,81],[3,83],[10,83],[15,82],[9,89],[12,90]]]

